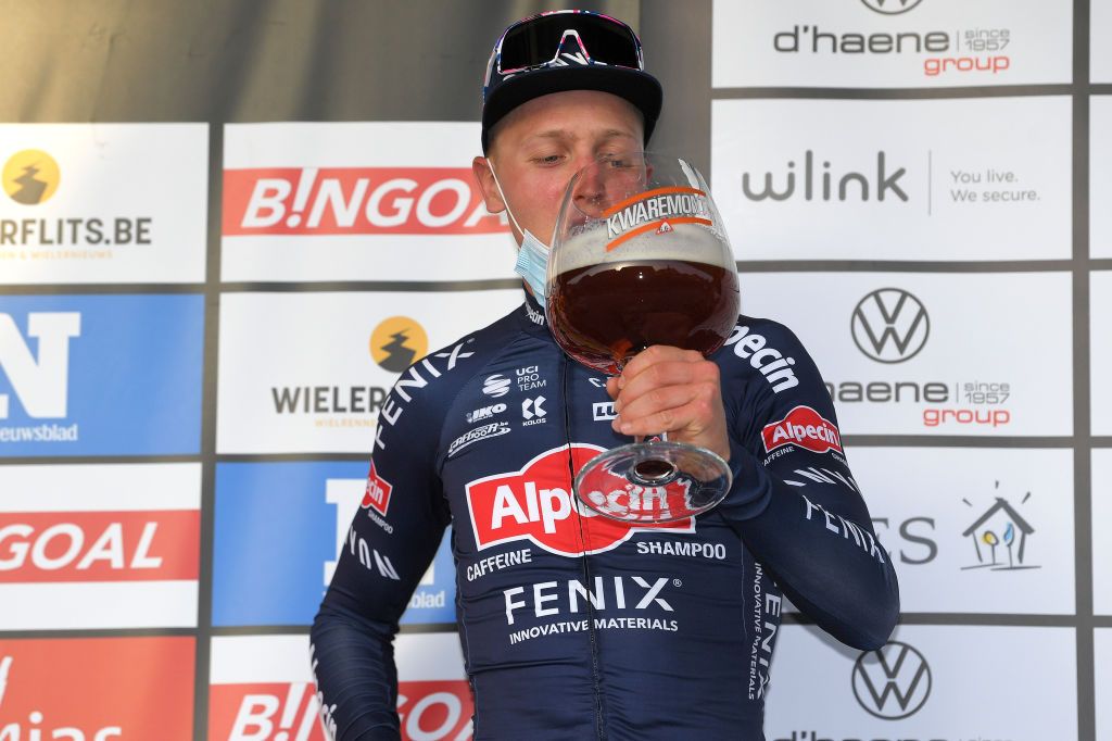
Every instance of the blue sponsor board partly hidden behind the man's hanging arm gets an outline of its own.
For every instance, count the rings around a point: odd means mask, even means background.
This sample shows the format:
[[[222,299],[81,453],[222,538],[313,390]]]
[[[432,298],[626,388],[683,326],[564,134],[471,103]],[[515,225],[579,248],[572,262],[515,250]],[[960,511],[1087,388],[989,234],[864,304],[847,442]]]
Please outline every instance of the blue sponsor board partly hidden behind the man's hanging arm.
[[[217,467],[215,625],[309,625],[331,581],[367,485],[353,462],[222,463]],[[379,555],[379,575],[396,577]],[[410,600],[403,623],[454,623],[450,540]]]

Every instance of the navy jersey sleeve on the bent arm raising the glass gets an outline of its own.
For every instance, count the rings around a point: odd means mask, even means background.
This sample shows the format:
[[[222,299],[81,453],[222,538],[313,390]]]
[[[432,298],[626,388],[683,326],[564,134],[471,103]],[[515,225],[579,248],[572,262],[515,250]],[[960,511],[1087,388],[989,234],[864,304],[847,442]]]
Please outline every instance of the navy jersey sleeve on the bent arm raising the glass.
[[[792,602],[851,646],[882,646],[900,615],[891,559],[842,448],[834,404],[800,340],[742,324],[723,350],[734,485],[717,510]],[[733,372],[732,372],[733,370]]]

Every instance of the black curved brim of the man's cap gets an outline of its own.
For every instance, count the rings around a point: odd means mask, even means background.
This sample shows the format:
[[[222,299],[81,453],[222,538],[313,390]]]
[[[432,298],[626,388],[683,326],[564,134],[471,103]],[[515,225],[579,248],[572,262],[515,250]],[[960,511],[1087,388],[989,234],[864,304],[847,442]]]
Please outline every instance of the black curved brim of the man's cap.
[[[559,67],[524,72],[494,89],[483,106],[483,151],[489,146],[489,131],[509,111],[534,98],[568,90],[598,90],[625,98],[645,118],[645,141],[653,135],[661,116],[664,92],[655,77],[625,67]]]

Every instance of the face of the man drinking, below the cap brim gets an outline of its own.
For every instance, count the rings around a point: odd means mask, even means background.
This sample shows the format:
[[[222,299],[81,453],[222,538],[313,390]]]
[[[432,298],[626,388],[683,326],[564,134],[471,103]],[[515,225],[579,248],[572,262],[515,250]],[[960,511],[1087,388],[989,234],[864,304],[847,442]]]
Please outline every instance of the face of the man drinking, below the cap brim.
[[[492,132],[489,159],[518,224],[548,243],[572,176],[607,156],[639,151],[641,112],[608,92],[572,90],[523,103]],[[487,208],[505,202],[483,157],[471,166]],[[516,230],[515,230],[516,231]],[[515,234],[518,241],[522,235]]]

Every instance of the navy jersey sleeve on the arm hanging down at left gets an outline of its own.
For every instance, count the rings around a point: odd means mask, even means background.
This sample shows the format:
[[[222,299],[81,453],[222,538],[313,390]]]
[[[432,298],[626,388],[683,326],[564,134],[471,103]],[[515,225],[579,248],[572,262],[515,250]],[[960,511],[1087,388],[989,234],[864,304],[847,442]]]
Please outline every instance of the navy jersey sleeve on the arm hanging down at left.
[[[366,493],[310,632],[321,715],[338,741],[400,738],[394,635],[450,520],[435,389],[407,385],[414,373],[379,413]]]

